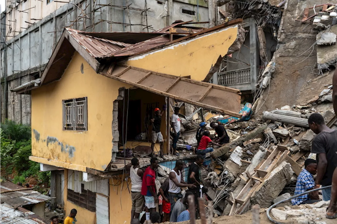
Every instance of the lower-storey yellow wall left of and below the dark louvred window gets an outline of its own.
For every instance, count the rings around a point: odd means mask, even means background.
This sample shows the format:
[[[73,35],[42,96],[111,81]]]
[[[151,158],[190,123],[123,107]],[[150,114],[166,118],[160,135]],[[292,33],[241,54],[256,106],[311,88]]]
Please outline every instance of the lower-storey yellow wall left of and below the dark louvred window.
[[[96,223],[96,213],[90,212],[82,207],[79,207],[72,202],[67,200],[68,194],[68,170],[64,169],[64,191],[63,191],[63,199],[64,199],[64,210],[65,217],[70,214],[72,209],[77,210],[76,216],[76,224],[95,224]]]

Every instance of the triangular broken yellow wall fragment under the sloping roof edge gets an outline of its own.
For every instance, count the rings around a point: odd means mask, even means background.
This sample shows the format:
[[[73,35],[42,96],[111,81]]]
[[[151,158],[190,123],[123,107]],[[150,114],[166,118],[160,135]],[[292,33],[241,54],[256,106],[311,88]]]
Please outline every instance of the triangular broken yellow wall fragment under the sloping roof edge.
[[[238,26],[229,27],[130,58],[126,64],[202,81],[219,56],[227,54],[237,33]]]

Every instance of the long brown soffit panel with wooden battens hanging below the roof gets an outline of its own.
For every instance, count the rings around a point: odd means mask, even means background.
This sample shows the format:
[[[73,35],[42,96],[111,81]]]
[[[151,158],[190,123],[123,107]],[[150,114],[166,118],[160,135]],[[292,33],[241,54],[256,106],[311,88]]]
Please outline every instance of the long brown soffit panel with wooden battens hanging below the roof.
[[[127,65],[112,64],[110,68],[100,73],[158,95],[241,117],[239,114],[241,93],[238,89]]]

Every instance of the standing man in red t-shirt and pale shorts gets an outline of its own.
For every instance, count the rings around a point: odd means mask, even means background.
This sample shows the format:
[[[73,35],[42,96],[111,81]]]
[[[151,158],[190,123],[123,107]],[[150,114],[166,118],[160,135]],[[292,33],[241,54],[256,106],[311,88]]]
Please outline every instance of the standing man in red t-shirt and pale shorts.
[[[157,190],[156,190],[156,173],[155,170],[158,167],[158,159],[156,157],[151,158],[151,165],[146,168],[143,175],[142,195],[145,198],[146,206],[146,220],[150,220],[150,212],[156,211],[156,204],[158,204]]]

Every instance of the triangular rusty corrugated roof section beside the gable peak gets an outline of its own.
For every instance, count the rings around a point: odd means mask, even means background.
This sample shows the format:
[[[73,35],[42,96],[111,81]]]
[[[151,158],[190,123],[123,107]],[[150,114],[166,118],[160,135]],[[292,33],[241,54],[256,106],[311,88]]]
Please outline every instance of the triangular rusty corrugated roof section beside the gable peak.
[[[113,52],[119,51],[124,47],[130,46],[130,44],[119,41],[113,41],[108,39],[92,37],[89,35],[84,35],[74,29],[66,28],[66,30],[94,58],[102,58],[106,54],[111,54]]]

